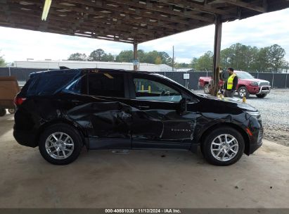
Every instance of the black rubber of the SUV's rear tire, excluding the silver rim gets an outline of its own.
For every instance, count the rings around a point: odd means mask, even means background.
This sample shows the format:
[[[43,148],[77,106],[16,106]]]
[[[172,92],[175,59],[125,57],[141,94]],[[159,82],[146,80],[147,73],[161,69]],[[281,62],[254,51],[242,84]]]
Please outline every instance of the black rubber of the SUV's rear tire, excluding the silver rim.
[[[48,151],[46,151],[46,146],[45,146],[46,139],[48,139],[51,136],[51,134],[56,133],[56,132],[63,132],[64,134],[67,134],[72,139],[72,143],[74,144],[74,147],[73,147],[72,153],[70,154],[70,156],[68,156],[68,158],[56,159],[56,158],[51,157]],[[67,165],[77,159],[80,151],[82,150],[82,145],[83,145],[82,137],[80,136],[79,132],[75,130],[74,127],[64,124],[64,123],[58,123],[56,125],[51,125],[47,127],[46,130],[44,130],[44,132],[41,134],[40,140],[39,140],[39,151],[41,153],[41,156],[45,160],[47,160],[49,163],[52,163],[54,165]],[[53,150],[56,151],[57,150],[56,147],[53,147]]]

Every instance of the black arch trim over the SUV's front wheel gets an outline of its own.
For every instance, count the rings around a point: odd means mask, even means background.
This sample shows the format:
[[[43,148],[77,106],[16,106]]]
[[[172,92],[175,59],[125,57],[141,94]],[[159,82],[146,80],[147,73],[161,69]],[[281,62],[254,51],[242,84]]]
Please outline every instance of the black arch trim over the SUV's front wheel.
[[[210,132],[212,132],[212,130],[215,130],[219,127],[232,127],[233,129],[237,130],[238,132],[240,132],[240,134],[242,135],[243,139],[244,139],[244,143],[245,143],[245,150],[244,153],[246,155],[249,155],[250,153],[250,138],[247,134],[247,132],[245,132],[245,130],[243,130],[242,127],[232,123],[232,122],[219,122],[217,124],[211,125],[210,127],[207,127],[207,129],[200,135],[198,141],[200,142],[200,144],[203,144],[205,137],[207,136],[207,134],[209,134]]]

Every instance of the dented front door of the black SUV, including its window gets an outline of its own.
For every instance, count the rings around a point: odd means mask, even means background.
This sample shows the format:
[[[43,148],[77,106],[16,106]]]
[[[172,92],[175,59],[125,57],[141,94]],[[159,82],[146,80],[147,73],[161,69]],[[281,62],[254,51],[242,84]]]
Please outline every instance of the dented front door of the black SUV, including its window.
[[[195,112],[180,112],[184,92],[154,75],[134,74],[129,78],[134,107],[132,147],[188,149],[193,140]]]

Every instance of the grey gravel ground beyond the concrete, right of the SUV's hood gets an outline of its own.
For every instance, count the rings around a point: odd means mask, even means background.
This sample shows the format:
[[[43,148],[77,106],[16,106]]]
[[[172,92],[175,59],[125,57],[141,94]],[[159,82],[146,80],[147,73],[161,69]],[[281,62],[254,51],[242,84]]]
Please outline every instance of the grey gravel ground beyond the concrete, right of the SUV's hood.
[[[194,92],[203,93],[203,91]],[[250,95],[247,103],[261,113],[264,139],[289,146],[289,89],[272,89],[264,99]]]

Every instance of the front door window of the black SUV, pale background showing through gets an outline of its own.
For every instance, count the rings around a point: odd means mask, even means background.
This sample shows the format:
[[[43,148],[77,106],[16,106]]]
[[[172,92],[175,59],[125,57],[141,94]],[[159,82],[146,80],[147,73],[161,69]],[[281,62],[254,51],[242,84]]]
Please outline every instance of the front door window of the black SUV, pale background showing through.
[[[136,99],[149,101],[181,101],[181,93],[160,82],[146,79],[134,79]]]

